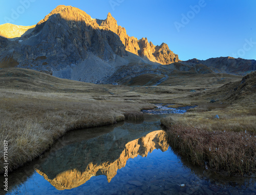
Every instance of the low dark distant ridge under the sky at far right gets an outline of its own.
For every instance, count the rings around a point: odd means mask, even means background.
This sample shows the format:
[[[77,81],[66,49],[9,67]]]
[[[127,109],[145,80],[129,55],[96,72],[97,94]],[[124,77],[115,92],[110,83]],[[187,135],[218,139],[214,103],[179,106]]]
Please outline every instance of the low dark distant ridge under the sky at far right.
[[[185,62],[193,64],[204,64],[221,70],[222,72],[232,74],[246,74],[247,72],[256,70],[256,60],[246,60],[242,58],[220,57],[210,58],[207,60],[198,60],[196,58]]]

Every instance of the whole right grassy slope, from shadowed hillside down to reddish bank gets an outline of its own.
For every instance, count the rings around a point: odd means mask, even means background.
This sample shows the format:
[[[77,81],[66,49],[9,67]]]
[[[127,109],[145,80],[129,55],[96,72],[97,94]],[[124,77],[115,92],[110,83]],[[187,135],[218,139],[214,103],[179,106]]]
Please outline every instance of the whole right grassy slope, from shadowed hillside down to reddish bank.
[[[256,172],[256,72],[187,97],[199,106],[162,119],[172,147],[195,164],[229,174]]]

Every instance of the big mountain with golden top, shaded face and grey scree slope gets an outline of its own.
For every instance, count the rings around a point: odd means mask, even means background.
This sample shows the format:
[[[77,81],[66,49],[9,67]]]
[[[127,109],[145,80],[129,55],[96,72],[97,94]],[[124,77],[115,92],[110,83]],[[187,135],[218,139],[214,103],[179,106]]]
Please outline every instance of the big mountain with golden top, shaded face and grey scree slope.
[[[75,76],[79,70],[87,69],[101,69],[101,74],[95,74],[99,80],[102,75],[108,77],[116,66],[129,64],[131,58],[136,63],[143,59],[162,64],[178,61],[168,47],[161,50],[161,45],[155,46],[147,39],[128,36],[110,13],[99,20],[71,6],[56,7],[36,26],[1,25],[0,36],[12,38],[0,45],[0,68],[17,66],[53,75],[54,71],[66,70],[54,76],[74,80],[79,80]],[[124,58],[130,53],[142,58]]]

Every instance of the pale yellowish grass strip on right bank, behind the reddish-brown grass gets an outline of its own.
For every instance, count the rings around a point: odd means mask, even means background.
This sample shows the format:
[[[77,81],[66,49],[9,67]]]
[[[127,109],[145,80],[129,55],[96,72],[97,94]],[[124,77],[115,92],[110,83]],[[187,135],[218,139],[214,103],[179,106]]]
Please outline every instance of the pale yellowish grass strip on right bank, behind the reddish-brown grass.
[[[218,118],[215,116],[218,115]],[[167,119],[166,119],[167,120]],[[184,127],[199,127],[208,131],[249,131],[256,134],[256,115],[238,109],[193,109],[184,115],[172,116],[172,123]]]

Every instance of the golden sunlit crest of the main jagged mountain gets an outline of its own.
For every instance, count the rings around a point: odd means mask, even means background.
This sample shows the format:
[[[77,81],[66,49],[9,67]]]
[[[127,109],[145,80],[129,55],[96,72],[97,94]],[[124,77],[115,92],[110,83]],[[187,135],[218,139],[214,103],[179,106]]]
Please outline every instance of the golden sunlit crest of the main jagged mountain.
[[[117,25],[116,19],[111,15],[110,12],[108,13],[106,19],[96,19],[94,22],[91,16],[89,16],[86,12],[71,6],[60,5],[57,6],[50,14],[45,17],[44,20],[40,22],[46,21],[53,14],[60,14],[61,19],[69,21],[84,21],[88,25],[93,26],[95,29],[99,28],[103,30],[110,30],[119,36],[126,51],[139,55],[142,58],[162,64],[169,64],[178,61],[178,55],[175,55],[172,51],[170,51],[166,43],[162,43],[159,47],[155,46],[151,41],[149,41],[147,37],[143,37],[140,40],[134,37],[129,37],[126,33],[126,30],[123,27]],[[155,54],[159,51],[159,49],[161,55],[156,56]]]

